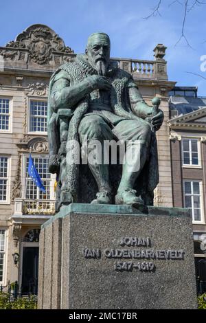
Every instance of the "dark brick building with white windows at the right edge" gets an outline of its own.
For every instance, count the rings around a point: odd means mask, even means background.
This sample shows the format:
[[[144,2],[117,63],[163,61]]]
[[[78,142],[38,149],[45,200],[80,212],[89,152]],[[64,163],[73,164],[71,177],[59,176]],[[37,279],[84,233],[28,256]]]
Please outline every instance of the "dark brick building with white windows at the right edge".
[[[194,87],[170,92],[170,143],[174,207],[189,208],[194,230],[198,292],[206,291],[206,98]]]

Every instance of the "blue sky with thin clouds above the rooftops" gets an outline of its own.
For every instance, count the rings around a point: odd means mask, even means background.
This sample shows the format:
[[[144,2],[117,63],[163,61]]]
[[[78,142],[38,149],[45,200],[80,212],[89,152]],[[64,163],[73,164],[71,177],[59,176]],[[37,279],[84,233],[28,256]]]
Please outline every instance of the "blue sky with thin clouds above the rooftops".
[[[180,0],[184,2],[184,0]],[[198,95],[206,96],[206,80],[187,74],[190,71],[206,78],[201,71],[201,56],[206,55],[206,5],[194,6],[187,13],[184,39],[181,36],[183,5],[162,0],[161,16],[148,16],[159,0],[36,0],[2,1],[0,45],[16,38],[26,27],[43,23],[51,27],[76,53],[84,52],[87,37],[103,31],[111,37],[111,56],[153,59],[157,43],[168,47],[170,80],[182,86],[198,86]],[[194,0],[189,0],[194,3]],[[170,6],[169,6],[170,5]],[[205,41],[205,43],[204,43]]]

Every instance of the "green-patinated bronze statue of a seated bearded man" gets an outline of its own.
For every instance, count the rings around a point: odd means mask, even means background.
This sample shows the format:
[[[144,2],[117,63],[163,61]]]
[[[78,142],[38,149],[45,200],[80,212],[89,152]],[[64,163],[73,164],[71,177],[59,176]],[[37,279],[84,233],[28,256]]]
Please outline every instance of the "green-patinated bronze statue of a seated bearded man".
[[[163,112],[149,107],[141,97],[133,77],[119,69],[110,59],[110,38],[98,32],[88,38],[85,54],[59,67],[50,80],[48,99],[49,171],[57,174],[58,206],[78,202],[80,168],[71,163],[69,142],[87,141],[88,151],[93,140],[121,140],[130,155],[133,142],[137,143],[135,170],[127,160],[122,166],[122,178],[115,192],[115,203],[126,205],[152,204],[141,188],[141,171],[145,170],[146,190],[152,195],[158,183],[157,142],[155,131],[163,122]],[[153,99],[154,100],[154,99]],[[132,151],[131,151],[132,152]],[[77,152],[76,152],[77,153]],[[147,169],[145,165],[147,162]],[[113,193],[109,166],[90,163],[89,169],[98,185],[96,199],[91,203],[111,204]],[[141,190],[140,190],[141,191]]]

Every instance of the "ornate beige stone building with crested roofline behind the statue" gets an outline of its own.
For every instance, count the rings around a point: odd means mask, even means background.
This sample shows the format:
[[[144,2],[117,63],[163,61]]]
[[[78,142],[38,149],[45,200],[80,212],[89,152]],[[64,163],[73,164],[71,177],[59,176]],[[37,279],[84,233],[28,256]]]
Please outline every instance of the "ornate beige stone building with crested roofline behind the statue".
[[[130,74],[148,104],[161,98],[165,114],[157,133],[159,186],[155,204],[171,207],[172,178],[165,49],[155,47],[154,60],[114,58]],[[31,25],[0,47],[0,285],[18,281],[23,293],[37,292],[38,237],[41,225],[54,214],[55,178],[47,170],[47,95],[52,72],[76,54],[54,30]],[[32,155],[44,194],[27,175]]]

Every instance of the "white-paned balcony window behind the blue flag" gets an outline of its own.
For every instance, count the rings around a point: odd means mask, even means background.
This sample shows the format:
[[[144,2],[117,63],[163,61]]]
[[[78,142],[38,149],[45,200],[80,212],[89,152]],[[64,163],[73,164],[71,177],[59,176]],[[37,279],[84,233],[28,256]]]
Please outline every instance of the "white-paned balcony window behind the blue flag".
[[[25,189],[25,198],[26,199],[54,199],[54,178],[52,178],[51,174],[48,172],[48,157],[32,157],[34,161],[34,166],[38,171],[39,176],[43,182],[43,186],[45,187],[46,192],[44,193],[40,190],[34,181],[26,176],[26,189]],[[29,157],[26,157],[26,174],[29,165]]]

